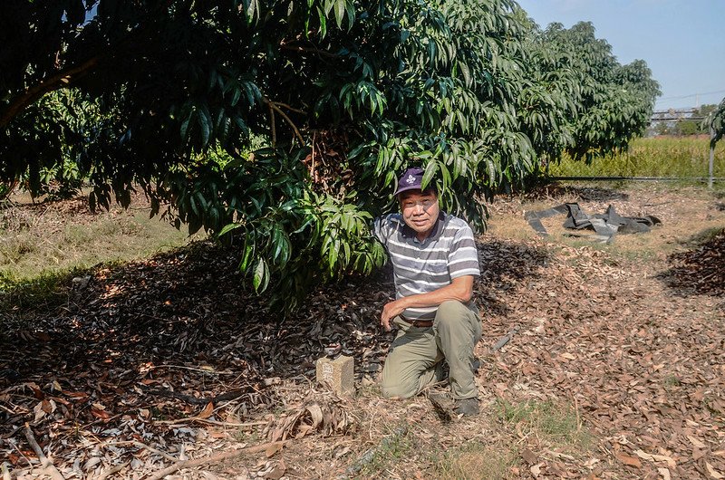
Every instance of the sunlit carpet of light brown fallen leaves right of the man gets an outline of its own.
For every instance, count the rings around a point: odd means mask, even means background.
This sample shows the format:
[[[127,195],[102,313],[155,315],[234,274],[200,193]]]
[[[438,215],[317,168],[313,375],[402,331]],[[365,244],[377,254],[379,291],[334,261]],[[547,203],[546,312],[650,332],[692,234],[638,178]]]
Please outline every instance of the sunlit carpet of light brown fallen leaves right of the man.
[[[567,401],[601,439],[591,470],[553,461],[542,475],[725,472],[722,306],[673,295],[652,274],[603,264],[588,247],[556,256],[546,274],[507,290],[515,310],[490,319],[488,341],[512,322],[522,333],[483,381],[511,402]]]

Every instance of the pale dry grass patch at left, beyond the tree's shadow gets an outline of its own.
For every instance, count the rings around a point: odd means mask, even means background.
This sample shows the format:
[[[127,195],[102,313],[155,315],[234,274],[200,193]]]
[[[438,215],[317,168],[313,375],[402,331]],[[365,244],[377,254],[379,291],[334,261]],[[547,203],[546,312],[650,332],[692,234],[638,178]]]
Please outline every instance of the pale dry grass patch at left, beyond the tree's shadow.
[[[184,245],[188,236],[149,218],[142,202],[92,214],[83,200],[0,210],[0,288]]]

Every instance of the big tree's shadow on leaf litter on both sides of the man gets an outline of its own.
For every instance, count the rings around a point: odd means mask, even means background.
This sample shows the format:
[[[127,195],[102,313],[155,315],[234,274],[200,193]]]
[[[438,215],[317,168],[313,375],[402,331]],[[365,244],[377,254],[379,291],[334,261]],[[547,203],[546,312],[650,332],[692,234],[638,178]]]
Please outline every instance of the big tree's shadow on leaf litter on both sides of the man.
[[[500,297],[548,261],[544,251],[491,239],[479,254],[476,291],[485,315],[507,312]],[[321,287],[285,318],[249,293],[237,264],[235,249],[197,243],[97,266],[76,281],[61,279],[62,295],[24,312],[5,309],[16,318],[0,331],[0,394],[20,396],[0,409],[7,426],[0,435],[32,420],[38,398],[66,402],[72,423],[102,420],[109,428],[122,427],[123,412],[189,417],[222,399],[233,399],[243,416],[266,412],[282,402],[267,387],[307,384],[331,344],[355,358],[357,379],[381,370],[394,336],[379,323],[394,298],[390,267]],[[77,281],[83,275],[87,283]],[[106,409],[92,407],[99,404]]]

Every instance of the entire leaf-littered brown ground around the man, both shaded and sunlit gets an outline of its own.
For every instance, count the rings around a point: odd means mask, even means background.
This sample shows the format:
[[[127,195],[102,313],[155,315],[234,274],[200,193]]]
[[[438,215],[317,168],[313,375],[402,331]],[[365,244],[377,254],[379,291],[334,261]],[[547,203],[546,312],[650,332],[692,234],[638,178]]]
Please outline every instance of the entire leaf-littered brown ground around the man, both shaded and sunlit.
[[[473,419],[443,418],[424,396],[379,397],[374,378],[391,341],[377,328],[392,293],[386,272],[321,289],[284,319],[245,293],[233,249],[198,243],[99,266],[59,304],[3,313],[0,459],[17,478],[53,468],[65,478],[152,478],[187,459],[218,461],[169,475],[722,478],[725,214],[716,200],[664,187],[498,199],[479,243],[483,413]],[[552,236],[537,237],[524,211],[563,201],[663,225],[597,245],[566,238],[553,218]],[[355,357],[356,398],[314,383],[314,360],[335,342]],[[569,434],[587,439],[531,427],[519,415],[527,406],[570,409]],[[41,466],[33,439],[52,466]],[[239,455],[222,461],[225,452]],[[483,456],[501,468],[479,466]],[[451,470],[467,458],[463,474]]]

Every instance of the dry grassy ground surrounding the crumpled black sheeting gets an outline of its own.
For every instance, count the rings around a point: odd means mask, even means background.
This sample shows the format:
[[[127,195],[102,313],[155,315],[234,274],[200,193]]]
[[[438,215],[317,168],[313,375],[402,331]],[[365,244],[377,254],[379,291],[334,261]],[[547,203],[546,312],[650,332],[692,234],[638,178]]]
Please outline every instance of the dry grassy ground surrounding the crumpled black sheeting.
[[[587,214],[601,214],[612,205],[623,216],[652,215],[662,225],[646,235],[616,235],[612,244],[598,244],[594,232],[572,232],[564,228],[565,216],[542,219],[550,245],[591,245],[610,255],[610,261],[647,263],[664,259],[708,232],[725,226],[725,212],[718,208],[721,193],[705,187],[681,187],[667,184],[627,184],[623,189],[602,185],[552,189],[544,197],[502,198],[490,206],[489,232],[503,238],[527,240],[536,237],[524,219],[527,211],[541,211],[567,202],[575,202]],[[582,235],[582,236],[572,236]],[[683,235],[684,233],[684,235]],[[688,234],[689,233],[689,234]]]

